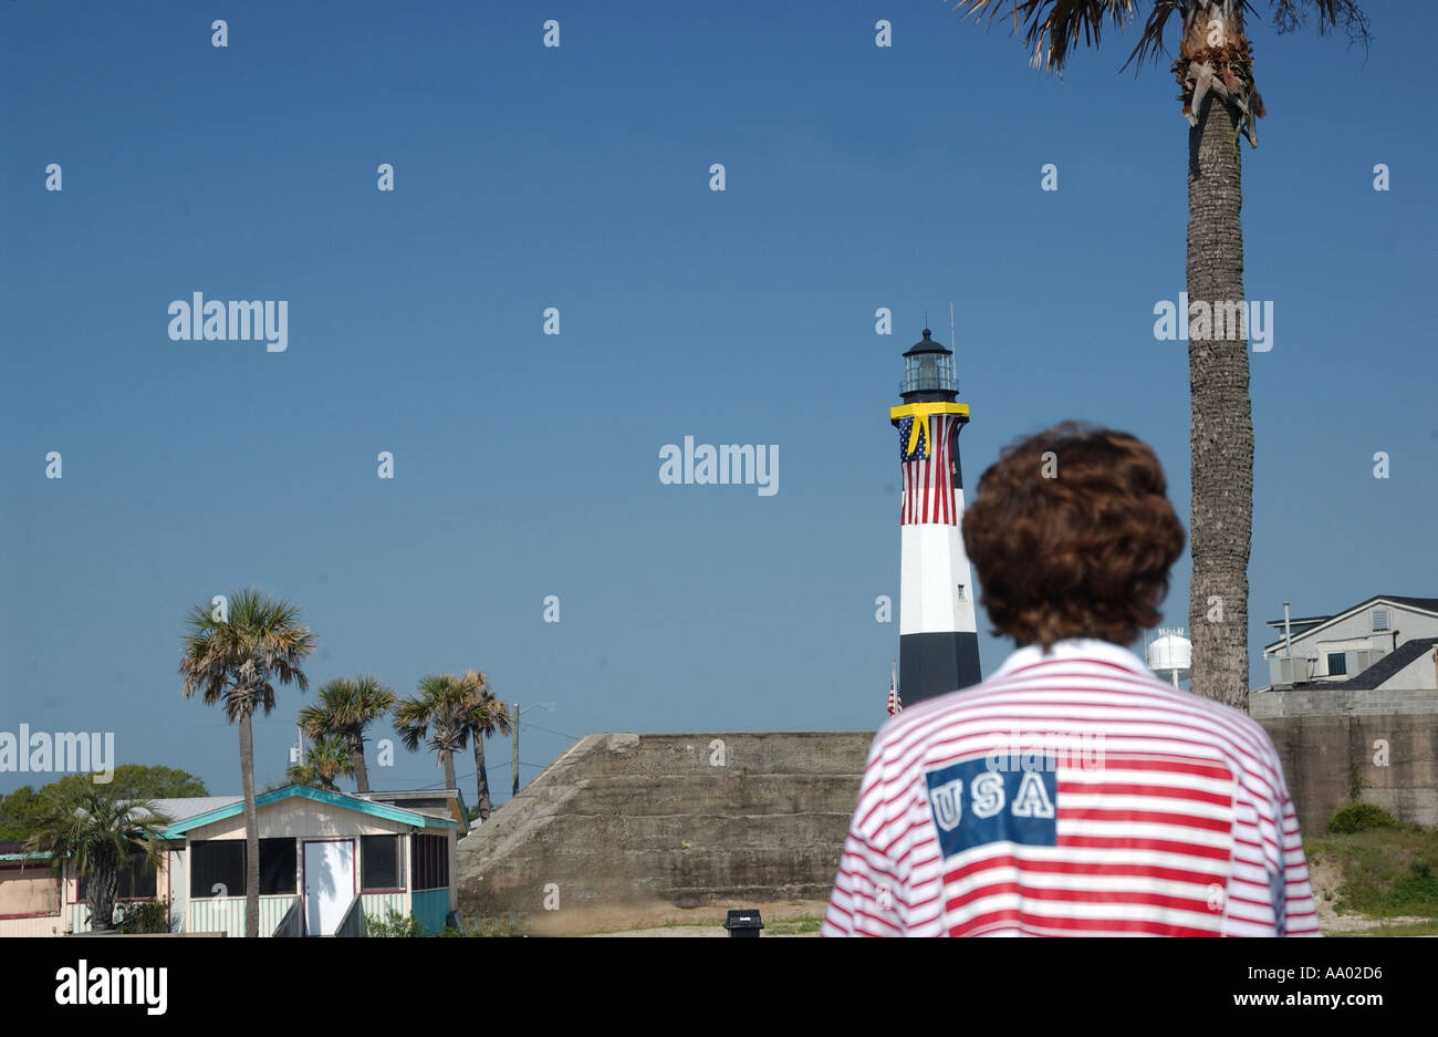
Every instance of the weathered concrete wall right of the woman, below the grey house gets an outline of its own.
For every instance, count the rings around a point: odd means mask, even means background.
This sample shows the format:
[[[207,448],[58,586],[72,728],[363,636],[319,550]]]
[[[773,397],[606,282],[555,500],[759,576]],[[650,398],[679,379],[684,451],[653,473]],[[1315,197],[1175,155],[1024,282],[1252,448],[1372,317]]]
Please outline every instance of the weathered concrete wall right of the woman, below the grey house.
[[[1252,696],[1257,705],[1270,696],[1294,696],[1287,711],[1303,706],[1297,699],[1323,692],[1268,692]],[[1263,716],[1278,749],[1288,791],[1299,810],[1304,834],[1322,833],[1333,813],[1357,800],[1373,803],[1399,820],[1438,826],[1438,695],[1434,692],[1383,692],[1385,702],[1360,702],[1359,709]],[[1375,695],[1356,692],[1356,696]],[[1353,705],[1353,703],[1349,703]],[[1378,712],[1383,709],[1385,712]]]

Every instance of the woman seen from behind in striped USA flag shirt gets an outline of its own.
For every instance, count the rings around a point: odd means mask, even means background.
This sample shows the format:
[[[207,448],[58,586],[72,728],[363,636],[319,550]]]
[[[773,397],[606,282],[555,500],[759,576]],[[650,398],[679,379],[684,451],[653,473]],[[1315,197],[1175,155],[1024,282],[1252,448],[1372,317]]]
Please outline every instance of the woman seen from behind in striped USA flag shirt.
[[[984,473],[963,542],[1017,650],[880,729],[824,935],[1319,935],[1268,735],[1126,647],[1183,539],[1127,433],[1061,424]]]

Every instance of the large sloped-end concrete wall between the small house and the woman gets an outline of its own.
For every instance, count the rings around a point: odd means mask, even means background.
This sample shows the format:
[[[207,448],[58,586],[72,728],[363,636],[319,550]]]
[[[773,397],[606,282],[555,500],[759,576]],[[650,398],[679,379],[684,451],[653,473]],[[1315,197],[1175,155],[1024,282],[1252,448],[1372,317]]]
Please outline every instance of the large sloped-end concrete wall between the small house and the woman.
[[[582,931],[605,915],[825,900],[873,738],[588,735],[460,840],[459,908]]]

